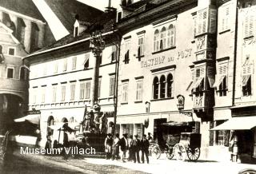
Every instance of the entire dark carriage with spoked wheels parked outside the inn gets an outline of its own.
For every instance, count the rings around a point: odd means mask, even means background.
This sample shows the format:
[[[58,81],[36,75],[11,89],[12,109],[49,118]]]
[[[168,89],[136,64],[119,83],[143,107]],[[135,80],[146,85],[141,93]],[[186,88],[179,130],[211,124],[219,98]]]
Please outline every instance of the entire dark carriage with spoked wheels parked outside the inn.
[[[168,159],[173,157],[176,160],[188,160],[195,161],[198,160],[200,156],[201,147],[201,134],[192,132],[191,129],[179,129],[180,131],[175,134],[163,135],[166,143],[164,148],[162,148],[158,143],[150,143],[150,152],[152,156],[157,159],[160,158],[161,153],[166,153]]]

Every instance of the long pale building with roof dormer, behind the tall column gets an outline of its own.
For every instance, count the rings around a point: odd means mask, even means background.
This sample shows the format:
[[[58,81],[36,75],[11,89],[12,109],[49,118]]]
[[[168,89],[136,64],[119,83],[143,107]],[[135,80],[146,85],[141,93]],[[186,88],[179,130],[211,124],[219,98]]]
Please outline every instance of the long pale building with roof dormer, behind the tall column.
[[[112,24],[116,12],[101,14],[104,16],[100,21],[104,24],[102,37],[105,49],[98,61],[98,104],[106,117],[114,117],[118,38],[113,33]],[[102,18],[97,14],[91,15],[95,21]],[[96,59],[90,49],[90,27],[90,22],[76,20],[74,33],[25,57],[30,67],[29,108],[41,112],[42,146],[47,132],[52,131],[48,126],[66,121],[79,125],[85,110],[90,112],[94,105],[92,93]],[[58,134],[54,134],[54,140],[58,140]]]

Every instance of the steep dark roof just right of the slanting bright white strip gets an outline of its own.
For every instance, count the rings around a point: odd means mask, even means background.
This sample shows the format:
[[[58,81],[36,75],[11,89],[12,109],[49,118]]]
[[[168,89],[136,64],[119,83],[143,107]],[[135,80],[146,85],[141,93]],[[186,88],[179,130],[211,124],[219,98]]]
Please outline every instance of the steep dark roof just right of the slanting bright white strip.
[[[86,22],[93,22],[94,18],[103,12],[76,0],[45,0],[50,9],[62,22],[70,33],[73,33],[75,18]]]

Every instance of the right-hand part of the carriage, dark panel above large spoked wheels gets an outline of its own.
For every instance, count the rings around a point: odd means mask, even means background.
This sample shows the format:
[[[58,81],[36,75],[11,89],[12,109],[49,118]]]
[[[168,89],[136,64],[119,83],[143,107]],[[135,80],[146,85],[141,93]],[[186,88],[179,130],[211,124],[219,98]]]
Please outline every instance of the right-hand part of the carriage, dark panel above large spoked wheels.
[[[176,160],[186,160],[186,156],[191,161],[198,160],[200,156],[201,134],[194,132],[182,132],[178,144],[174,145],[173,156]]]

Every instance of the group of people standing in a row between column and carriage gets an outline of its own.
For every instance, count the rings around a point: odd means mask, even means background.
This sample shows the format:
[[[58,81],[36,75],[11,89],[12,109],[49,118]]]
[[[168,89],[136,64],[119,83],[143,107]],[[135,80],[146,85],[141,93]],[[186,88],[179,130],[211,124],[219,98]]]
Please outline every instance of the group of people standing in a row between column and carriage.
[[[134,161],[134,163],[141,163],[141,161],[144,163],[144,157],[146,156],[146,162],[149,164],[149,148],[151,140],[152,136],[150,136],[150,133],[148,133],[148,136],[144,134],[142,140],[138,139],[138,135],[128,137],[128,134],[124,133],[120,139],[118,133],[115,134],[114,137],[109,133],[105,140],[106,159],[118,160],[121,158],[122,162],[126,162],[127,159],[129,161]]]

